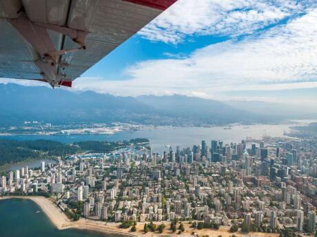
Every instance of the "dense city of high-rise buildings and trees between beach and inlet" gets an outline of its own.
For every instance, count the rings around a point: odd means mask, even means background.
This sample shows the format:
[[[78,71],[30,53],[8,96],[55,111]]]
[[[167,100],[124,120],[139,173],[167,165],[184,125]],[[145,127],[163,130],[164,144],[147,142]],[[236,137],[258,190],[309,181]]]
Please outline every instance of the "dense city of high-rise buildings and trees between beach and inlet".
[[[108,152],[55,157],[39,168],[22,166],[2,175],[1,193],[28,195],[39,205],[41,199],[33,195],[54,197],[73,220],[67,225],[76,227],[80,220],[79,228],[100,232],[176,234],[175,225],[183,236],[218,229],[225,236],[238,229],[267,236],[289,236],[290,229],[314,234],[314,140],[269,137],[225,144],[210,139],[163,153],[148,142],[134,139],[125,146],[114,143],[120,147]]]

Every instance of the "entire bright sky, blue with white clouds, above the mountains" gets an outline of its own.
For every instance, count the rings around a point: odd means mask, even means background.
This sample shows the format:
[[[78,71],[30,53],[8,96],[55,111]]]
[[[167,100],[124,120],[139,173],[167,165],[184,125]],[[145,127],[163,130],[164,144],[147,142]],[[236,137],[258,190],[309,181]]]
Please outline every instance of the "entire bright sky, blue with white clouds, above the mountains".
[[[313,106],[317,1],[178,0],[72,90]]]

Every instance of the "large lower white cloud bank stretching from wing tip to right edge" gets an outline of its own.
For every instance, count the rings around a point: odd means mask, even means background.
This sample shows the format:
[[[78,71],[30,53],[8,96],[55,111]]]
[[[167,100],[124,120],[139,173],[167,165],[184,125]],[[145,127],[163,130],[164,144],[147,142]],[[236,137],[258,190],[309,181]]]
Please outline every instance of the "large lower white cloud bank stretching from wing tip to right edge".
[[[216,98],[219,91],[317,87],[317,9],[260,35],[209,45],[187,58],[146,60],[125,73],[131,80],[79,78],[74,88]]]

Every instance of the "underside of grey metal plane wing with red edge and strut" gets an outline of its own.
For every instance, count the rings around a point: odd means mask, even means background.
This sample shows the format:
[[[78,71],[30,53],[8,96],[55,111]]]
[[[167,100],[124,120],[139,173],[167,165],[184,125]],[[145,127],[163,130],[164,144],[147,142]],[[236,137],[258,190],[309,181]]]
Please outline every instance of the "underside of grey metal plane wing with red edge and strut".
[[[72,80],[176,0],[0,0],[0,78]]]

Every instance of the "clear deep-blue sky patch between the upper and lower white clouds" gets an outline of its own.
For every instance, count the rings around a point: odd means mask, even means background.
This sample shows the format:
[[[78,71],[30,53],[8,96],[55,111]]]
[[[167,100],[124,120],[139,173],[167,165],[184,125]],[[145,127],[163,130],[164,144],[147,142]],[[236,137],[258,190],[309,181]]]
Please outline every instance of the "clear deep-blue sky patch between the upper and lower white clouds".
[[[103,77],[105,80],[128,80],[124,69],[143,60],[187,57],[194,50],[226,41],[227,36],[187,36],[185,41],[172,44],[151,41],[136,34],[119,45],[108,56],[83,74],[83,77]]]

